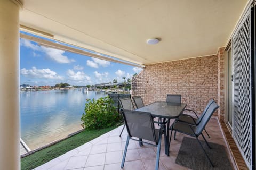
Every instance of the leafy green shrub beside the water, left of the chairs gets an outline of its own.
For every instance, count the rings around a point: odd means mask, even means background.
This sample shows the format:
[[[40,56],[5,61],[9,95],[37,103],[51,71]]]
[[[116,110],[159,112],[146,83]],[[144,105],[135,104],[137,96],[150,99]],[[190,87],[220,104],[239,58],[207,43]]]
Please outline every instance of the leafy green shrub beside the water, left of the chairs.
[[[121,116],[113,106],[113,100],[108,96],[86,101],[85,113],[81,118],[84,129],[108,128],[120,121]]]

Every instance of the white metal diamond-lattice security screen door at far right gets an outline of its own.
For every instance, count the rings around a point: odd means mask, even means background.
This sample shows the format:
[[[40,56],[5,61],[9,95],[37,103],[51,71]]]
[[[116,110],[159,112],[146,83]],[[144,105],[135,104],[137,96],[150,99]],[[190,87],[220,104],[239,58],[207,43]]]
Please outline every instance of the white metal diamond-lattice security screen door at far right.
[[[233,40],[233,137],[247,165],[252,165],[251,16],[250,11]]]

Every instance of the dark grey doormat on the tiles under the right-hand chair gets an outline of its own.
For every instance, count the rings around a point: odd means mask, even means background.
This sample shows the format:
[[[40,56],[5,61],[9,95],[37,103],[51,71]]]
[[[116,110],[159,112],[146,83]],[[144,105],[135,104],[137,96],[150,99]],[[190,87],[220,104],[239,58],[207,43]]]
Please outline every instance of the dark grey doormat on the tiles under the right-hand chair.
[[[183,138],[175,163],[193,170],[233,169],[223,145],[209,142],[212,147],[212,149],[209,149],[205,141],[200,142],[213,162],[214,167],[211,166],[198,141],[195,138],[188,137]]]

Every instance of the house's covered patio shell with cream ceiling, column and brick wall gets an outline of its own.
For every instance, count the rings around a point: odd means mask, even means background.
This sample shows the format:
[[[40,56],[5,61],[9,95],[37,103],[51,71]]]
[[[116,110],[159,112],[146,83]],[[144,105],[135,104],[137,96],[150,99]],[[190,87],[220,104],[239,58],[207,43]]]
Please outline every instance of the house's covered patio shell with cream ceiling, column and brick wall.
[[[20,167],[20,37],[47,47],[142,67],[132,80],[132,95],[142,96],[145,104],[163,101],[166,94],[181,94],[182,102],[199,113],[207,100],[214,98],[220,106],[214,114],[215,124],[225,132],[234,168],[255,169],[254,3],[0,1],[0,84],[4,87],[0,169]],[[19,30],[105,55],[81,52],[20,34]],[[215,135],[222,134],[218,131]]]

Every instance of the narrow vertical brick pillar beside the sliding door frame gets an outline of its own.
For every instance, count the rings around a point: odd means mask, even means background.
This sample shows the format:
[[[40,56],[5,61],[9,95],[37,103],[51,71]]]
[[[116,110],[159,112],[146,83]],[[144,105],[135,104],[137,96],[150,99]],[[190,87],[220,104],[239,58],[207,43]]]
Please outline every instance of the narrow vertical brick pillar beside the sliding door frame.
[[[218,118],[219,120],[224,119],[224,47],[220,48],[217,56],[218,56],[218,105],[220,108],[218,109]]]

